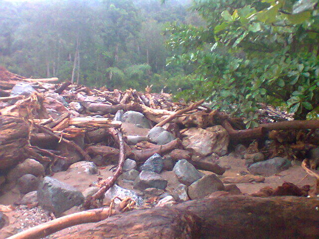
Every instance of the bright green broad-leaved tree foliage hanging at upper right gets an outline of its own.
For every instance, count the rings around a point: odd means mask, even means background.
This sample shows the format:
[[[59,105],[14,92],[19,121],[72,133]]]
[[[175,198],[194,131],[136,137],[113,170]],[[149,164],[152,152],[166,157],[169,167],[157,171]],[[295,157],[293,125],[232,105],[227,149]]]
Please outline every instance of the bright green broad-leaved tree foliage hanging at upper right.
[[[318,0],[194,0],[206,26],[171,24],[169,64],[192,65],[195,89],[255,126],[259,103],[297,118],[319,112]]]

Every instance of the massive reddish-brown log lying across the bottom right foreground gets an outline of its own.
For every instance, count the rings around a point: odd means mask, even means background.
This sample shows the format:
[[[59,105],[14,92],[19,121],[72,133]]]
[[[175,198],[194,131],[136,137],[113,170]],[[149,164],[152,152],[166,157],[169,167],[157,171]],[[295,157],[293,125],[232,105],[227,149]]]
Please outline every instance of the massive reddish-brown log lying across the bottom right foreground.
[[[54,239],[315,239],[319,201],[224,196],[136,210],[59,233]]]

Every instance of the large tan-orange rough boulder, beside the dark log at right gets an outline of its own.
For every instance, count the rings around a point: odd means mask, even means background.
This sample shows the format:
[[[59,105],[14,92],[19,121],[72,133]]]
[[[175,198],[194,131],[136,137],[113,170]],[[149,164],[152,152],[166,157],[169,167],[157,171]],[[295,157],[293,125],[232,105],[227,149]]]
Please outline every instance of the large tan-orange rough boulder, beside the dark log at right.
[[[206,129],[189,128],[182,135],[184,148],[193,154],[204,157],[211,153],[217,153],[219,156],[227,153],[229,135],[220,125]]]

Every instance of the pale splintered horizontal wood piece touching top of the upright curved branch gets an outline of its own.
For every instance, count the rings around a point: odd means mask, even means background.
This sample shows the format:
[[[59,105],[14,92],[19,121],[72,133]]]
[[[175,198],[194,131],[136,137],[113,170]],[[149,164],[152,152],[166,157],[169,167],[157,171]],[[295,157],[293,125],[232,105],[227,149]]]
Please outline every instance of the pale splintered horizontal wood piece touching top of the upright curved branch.
[[[69,120],[70,125],[76,126],[96,126],[96,127],[113,127],[119,128],[122,125],[121,121],[112,120],[108,118],[88,118],[88,117],[79,117],[79,118],[72,118]]]

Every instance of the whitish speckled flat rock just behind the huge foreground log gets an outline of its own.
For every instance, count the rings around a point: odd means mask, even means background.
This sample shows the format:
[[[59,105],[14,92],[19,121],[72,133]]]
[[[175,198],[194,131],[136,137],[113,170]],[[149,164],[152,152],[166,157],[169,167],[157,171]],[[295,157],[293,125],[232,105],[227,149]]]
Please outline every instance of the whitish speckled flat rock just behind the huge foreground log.
[[[138,207],[141,207],[144,205],[143,198],[140,197],[136,192],[129,190],[129,189],[122,188],[116,184],[113,187],[111,187],[108,191],[106,191],[104,196],[105,196],[105,200],[108,203],[111,202],[111,200],[114,197],[119,197],[121,199],[130,197],[135,201],[135,203]],[[116,204],[119,204],[120,200],[115,199],[114,202]]]

